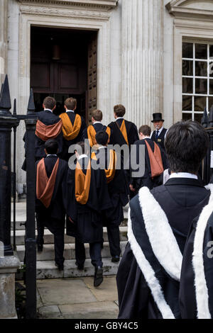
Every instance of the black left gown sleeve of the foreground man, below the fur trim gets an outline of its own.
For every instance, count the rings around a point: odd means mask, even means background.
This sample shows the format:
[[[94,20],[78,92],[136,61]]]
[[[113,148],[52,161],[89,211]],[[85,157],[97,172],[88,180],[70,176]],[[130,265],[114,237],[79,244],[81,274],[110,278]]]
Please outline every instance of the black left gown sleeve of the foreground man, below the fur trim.
[[[119,264],[116,283],[119,295],[119,319],[147,319],[150,290],[129,243]]]

